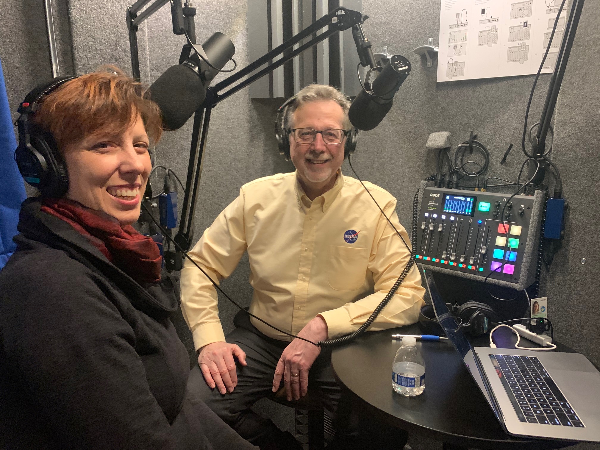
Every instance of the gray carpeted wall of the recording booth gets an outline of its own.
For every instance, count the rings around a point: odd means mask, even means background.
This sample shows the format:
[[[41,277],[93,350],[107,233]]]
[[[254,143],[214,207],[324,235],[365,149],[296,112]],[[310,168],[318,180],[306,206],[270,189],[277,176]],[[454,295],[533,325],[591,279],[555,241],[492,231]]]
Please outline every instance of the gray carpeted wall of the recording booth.
[[[59,55],[64,73],[93,70],[116,64],[130,71],[124,0],[56,0]],[[377,50],[387,45],[412,63],[412,73],[396,95],[394,107],[376,130],[361,133],[353,165],[359,175],[398,198],[397,212],[409,226],[412,197],[419,181],[435,172],[434,155],[425,150],[428,134],[451,131],[452,143],[468,139],[469,131],[490,149],[490,175],[516,179],[523,161],[520,139],[524,109],[533,76],[489,80],[436,82],[436,64],[427,68],[412,50],[439,32],[439,0],[363,0],[370,19],[364,30]],[[244,1],[197,2],[198,40],[214,31],[232,38],[239,67],[247,64],[247,21]],[[38,80],[50,73],[46,27],[41,2],[0,0],[0,58],[13,109]],[[600,161],[600,0],[586,0],[571,59],[557,103],[553,160],[562,173],[571,209],[566,238],[550,272],[542,277],[542,292],[549,297],[550,318],[556,337],[600,362],[598,273],[600,213],[596,196]],[[139,31],[143,81],[155,80],[176,64],[182,37],[172,34],[169,8],[162,8]],[[549,75],[541,77],[533,101],[530,123],[537,121]],[[347,92],[353,95],[355,92]],[[196,217],[196,236],[238,194],[247,181],[275,172],[293,170],[278,155],[272,137],[274,100],[250,100],[238,92],[219,104],[212,114],[208,152],[204,164]],[[191,121],[166,134],[157,148],[157,163],[172,167],[181,177],[187,170]],[[514,144],[504,165],[500,159]],[[344,173],[350,175],[347,163]],[[586,260],[581,263],[582,258]],[[247,259],[223,282],[232,296],[247,303]],[[506,304],[506,308],[513,307]],[[232,328],[235,307],[220,302],[224,328]]]

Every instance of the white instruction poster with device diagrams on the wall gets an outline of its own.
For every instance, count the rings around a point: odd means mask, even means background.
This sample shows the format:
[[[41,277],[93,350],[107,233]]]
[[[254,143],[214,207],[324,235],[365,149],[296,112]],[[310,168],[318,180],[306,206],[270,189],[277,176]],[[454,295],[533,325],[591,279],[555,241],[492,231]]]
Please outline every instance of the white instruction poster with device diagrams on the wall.
[[[560,0],[442,0],[437,81],[538,72]],[[560,13],[542,73],[551,73],[563,35]]]

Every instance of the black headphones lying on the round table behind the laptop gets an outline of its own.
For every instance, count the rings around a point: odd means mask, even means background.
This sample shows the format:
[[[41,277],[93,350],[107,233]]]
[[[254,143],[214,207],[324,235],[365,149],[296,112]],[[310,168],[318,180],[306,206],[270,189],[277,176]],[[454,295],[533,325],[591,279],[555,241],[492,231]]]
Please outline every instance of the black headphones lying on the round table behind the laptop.
[[[485,303],[466,302],[454,309],[457,326],[464,328],[472,336],[480,336],[499,323],[496,311]],[[425,305],[419,311],[419,326],[428,334],[442,334],[443,329],[437,321],[433,305]]]

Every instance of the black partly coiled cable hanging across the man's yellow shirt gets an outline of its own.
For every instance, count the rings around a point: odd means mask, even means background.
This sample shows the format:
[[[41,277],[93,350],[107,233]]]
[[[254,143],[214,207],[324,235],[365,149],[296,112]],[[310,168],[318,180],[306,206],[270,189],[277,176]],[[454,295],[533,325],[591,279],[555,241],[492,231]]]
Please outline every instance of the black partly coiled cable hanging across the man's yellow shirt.
[[[181,247],[181,245],[179,245],[179,244],[177,244],[177,242],[175,242],[175,239],[173,239],[169,235],[170,233],[167,233],[167,231],[165,229],[163,229],[163,227],[160,225],[160,223],[154,218],[154,215],[152,215],[152,212],[150,211],[150,209],[148,209],[148,207],[143,202],[140,203],[140,206],[144,209],[144,211],[146,211],[146,213],[151,218],[152,222],[154,222],[154,224],[163,233],[163,235],[169,240],[169,242],[171,242],[173,245],[175,245],[175,248],[177,250],[181,251],[181,253],[183,253],[185,255],[185,257],[187,257],[187,259],[190,260],[190,262],[194,266],[196,266],[196,268],[200,272],[202,272],[202,274],[204,274],[206,278],[208,278],[208,280],[212,283],[212,285],[220,293],[222,293],[227,300],[229,300],[236,307],[238,307],[239,310],[245,311],[245,313],[247,313],[248,316],[253,317],[256,320],[259,320],[260,322],[264,323],[266,326],[269,326],[270,328],[275,329],[275,330],[283,333],[286,336],[289,336],[289,337],[292,337],[292,338],[301,339],[301,340],[303,340],[305,342],[308,342],[310,344],[313,344],[314,346],[321,347],[321,348],[333,347],[333,346],[337,346],[337,345],[340,345],[340,344],[344,344],[344,343],[350,342],[350,341],[354,340],[356,337],[358,337],[359,335],[361,335],[363,332],[365,332],[367,330],[367,328],[369,328],[369,326],[371,326],[371,324],[374,322],[374,320],[377,318],[377,316],[379,316],[379,314],[381,313],[381,311],[383,310],[383,308],[385,308],[385,306],[389,303],[389,301],[395,295],[396,291],[398,290],[398,288],[400,287],[400,285],[403,283],[404,278],[406,278],[406,275],[408,275],[408,273],[410,272],[410,269],[412,269],[413,265],[415,265],[415,250],[414,250],[414,246],[413,246],[413,249],[411,250],[410,246],[406,243],[406,241],[404,240],[404,238],[402,237],[402,235],[400,234],[400,232],[398,231],[398,229],[394,226],[394,224],[392,223],[392,221],[389,220],[389,217],[385,214],[385,212],[383,212],[383,209],[381,208],[381,206],[379,206],[379,203],[377,203],[377,200],[375,200],[375,198],[373,197],[373,195],[370,193],[370,191],[365,186],[364,182],[362,182],[362,179],[359,178],[358,174],[356,173],[356,170],[354,170],[354,167],[352,167],[352,161],[350,161],[350,155],[348,155],[348,163],[350,164],[350,169],[352,169],[352,172],[354,173],[354,175],[356,176],[356,178],[358,179],[358,181],[361,183],[362,187],[365,188],[365,191],[367,191],[367,193],[369,194],[369,196],[371,197],[371,199],[373,199],[373,202],[375,202],[375,204],[377,205],[377,208],[379,208],[379,211],[381,211],[381,214],[383,214],[383,217],[386,218],[386,220],[388,221],[388,223],[390,224],[390,226],[394,229],[395,233],[398,235],[398,237],[404,243],[404,246],[407,248],[407,250],[409,250],[410,259],[409,259],[409,262],[407,262],[406,266],[404,266],[404,270],[401,272],[400,276],[395,281],[394,285],[389,289],[388,293],[386,293],[385,297],[382,299],[382,301],[379,303],[379,305],[377,305],[377,307],[373,310],[373,313],[371,313],[371,315],[368,317],[368,319],[365,320],[365,322],[356,331],[353,331],[352,333],[347,334],[347,335],[342,336],[342,337],[339,337],[339,338],[335,338],[335,339],[331,339],[331,340],[326,340],[326,341],[319,341],[318,343],[314,343],[311,340],[308,340],[306,338],[300,337],[300,336],[295,335],[295,334],[291,334],[291,333],[289,333],[287,331],[284,331],[284,330],[282,330],[280,328],[277,328],[276,326],[271,325],[271,323],[266,322],[266,320],[263,320],[263,319],[261,319],[258,316],[255,316],[254,314],[250,313],[250,311],[246,310],[244,307],[242,307],[241,305],[239,305],[229,295],[227,295],[227,293],[223,289],[221,289],[221,287],[214,280],[212,280],[212,278],[210,277],[210,275],[208,275],[206,273],[206,271],[204,269],[202,269],[202,267],[200,267],[200,265],[198,265],[196,263],[196,261],[194,261],[188,255],[187,251],[185,251],[184,248]],[[419,191],[417,191],[417,193],[415,194],[415,197],[413,199],[413,230],[416,229],[417,222],[418,222],[417,217],[416,217],[417,215],[414,214],[415,209],[418,208],[418,201],[419,201]]]

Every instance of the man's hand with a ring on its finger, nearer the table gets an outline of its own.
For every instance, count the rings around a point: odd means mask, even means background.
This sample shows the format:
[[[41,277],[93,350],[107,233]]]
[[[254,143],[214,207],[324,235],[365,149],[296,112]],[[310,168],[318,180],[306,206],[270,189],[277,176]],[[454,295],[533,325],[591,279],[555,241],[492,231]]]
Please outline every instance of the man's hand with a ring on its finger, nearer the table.
[[[324,341],[328,337],[327,323],[321,316],[308,322],[298,333],[314,343]],[[281,353],[281,358],[275,367],[273,392],[279,389],[281,379],[286,386],[287,401],[300,400],[308,392],[308,370],[321,352],[320,347],[295,338]]]

